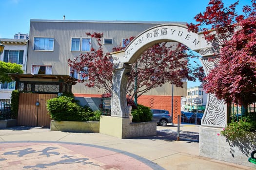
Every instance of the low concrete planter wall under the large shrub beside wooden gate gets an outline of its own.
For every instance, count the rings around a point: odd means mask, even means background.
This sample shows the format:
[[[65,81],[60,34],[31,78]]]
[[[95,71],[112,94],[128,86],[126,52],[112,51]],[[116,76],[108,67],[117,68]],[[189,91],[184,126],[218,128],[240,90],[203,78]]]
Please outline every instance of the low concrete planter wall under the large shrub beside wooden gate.
[[[98,133],[99,122],[51,120],[51,131]]]

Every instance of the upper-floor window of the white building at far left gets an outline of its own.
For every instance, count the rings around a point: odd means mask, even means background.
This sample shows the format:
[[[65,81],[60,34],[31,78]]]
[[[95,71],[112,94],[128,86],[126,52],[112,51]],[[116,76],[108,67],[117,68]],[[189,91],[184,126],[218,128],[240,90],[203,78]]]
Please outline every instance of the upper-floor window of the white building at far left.
[[[4,50],[3,61],[8,63],[23,64],[23,50]]]

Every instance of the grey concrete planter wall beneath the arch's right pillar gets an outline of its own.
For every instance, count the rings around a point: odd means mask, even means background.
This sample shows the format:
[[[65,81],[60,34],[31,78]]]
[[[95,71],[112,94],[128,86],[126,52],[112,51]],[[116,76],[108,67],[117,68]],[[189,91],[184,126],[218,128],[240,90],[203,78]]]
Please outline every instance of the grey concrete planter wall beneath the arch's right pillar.
[[[256,150],[256,132],[251,137],[228,141],[224,136],[218,136],[222,128],[204,127],[199,128],[199,154],[218,160],[232,162],[256,168],[248,158]]]

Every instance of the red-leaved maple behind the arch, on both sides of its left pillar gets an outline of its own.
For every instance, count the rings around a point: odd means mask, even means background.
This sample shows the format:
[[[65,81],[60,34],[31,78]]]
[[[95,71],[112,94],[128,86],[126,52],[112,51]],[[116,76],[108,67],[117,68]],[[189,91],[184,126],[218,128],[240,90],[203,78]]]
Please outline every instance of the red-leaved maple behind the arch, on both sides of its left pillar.
[[[106,93],[112,91],[112,71],[113,63],[111,55],[104,52],[101,44],[103,34],[87,33],[98,42],[98,49],[92,48],[90,52],[80,54],[74,60],[69,59],[69,66],[81,73],[82,77],[89,77],[89,80],[80,79],[88,87],[105,89]],[[127,45],[134,37],[125,41]],[[124,50],[124,47],[114,47],[113,51]],[[144,51],[137,63],[132,64],[127,85],[127,96],[133,99],[143,93],[171,83],[182,87],[182,79],[194,81],[193,70],[190,69],[188,57],[194,57],[187,53],[188,48],[182,44],[160,43]],[[87,70],[88,68],[88,70]],[[85,71],[86,69],[86,71]],[[135,88],[135,77],[137,78],[137,88]],[[137,89],[136,91],[134,89]]]

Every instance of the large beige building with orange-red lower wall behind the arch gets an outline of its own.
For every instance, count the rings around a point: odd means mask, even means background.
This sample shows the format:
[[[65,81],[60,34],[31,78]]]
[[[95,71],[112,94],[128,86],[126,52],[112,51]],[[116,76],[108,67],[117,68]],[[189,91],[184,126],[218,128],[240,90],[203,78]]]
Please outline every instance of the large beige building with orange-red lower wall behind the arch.
[[[113,47],[122,45],[130,36],[137,36],[143,31],[159,24],[184,22],[156,21],[81,21],[81,20],[30,20],[30,43],[28,46],[28,74],[65,74],[79,78],[79,74],[70,74],[67,60],[74,59],[81,53],[97,47],[97,42],[86,33],[103,33],[104,51],[112,51]],[[90,68],[89,68],[90,69]],[[187,83],[184,88],[174,87],[174,98],[180,111],[180,98],[187,93]],[[103,89],[88,88],[83,84],[73,86],[77,97],[101,97]],[[151,108],[167,109],[171,112],[172,85],[166,84],[153,89],[138,98]]]

